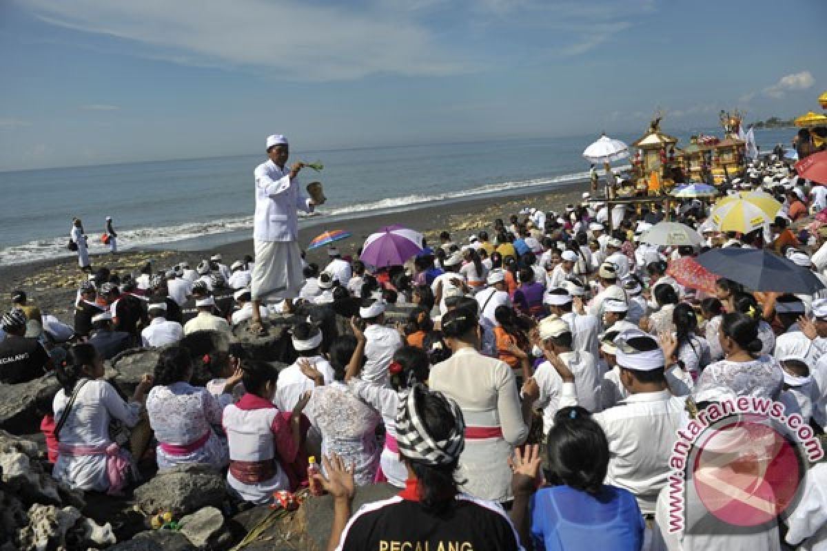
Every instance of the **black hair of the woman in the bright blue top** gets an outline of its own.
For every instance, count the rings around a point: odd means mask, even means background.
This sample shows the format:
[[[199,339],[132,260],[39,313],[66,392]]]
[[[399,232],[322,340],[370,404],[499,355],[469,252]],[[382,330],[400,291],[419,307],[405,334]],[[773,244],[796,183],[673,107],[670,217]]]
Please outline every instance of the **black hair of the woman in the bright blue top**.
[[[589,411],[581,406],[557,411],[547,442],[549,482],[592,496],[600,492],[609,470],[609,441]]]

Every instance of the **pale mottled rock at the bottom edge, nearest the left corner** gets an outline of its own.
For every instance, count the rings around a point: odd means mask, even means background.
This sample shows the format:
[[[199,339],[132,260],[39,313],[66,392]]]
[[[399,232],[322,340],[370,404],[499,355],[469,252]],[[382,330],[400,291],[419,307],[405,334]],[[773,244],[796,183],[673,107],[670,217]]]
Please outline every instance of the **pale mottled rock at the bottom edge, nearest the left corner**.
[[[115,543],[112,526],[100,526],[69,506],[35,504],[28,511],[29,523],[18,533],[21,549],[85,549],[89,544],[103,547]]]

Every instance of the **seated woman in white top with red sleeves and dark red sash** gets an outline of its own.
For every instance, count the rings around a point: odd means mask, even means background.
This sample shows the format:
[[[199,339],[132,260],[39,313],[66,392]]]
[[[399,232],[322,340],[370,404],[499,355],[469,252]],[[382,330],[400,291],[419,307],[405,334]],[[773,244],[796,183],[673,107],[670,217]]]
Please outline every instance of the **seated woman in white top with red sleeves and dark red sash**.
[[[273,492],[295,490],[307,476],[302,411],[310,394],[299,397],[293,411],[281,412],[273,405],[278,370],[264,362],[243,363],[241,369],[247,392],[224,409],[230,446],[227,483],[244,501],[268,503]]]

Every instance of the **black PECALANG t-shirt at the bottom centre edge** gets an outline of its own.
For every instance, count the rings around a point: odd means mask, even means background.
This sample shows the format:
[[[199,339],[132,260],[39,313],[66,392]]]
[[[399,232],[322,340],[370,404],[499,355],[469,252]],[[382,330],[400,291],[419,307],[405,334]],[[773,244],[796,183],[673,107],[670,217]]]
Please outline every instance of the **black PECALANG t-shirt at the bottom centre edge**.
[[[381,549],[522,549],[505,513],[471,496],[457,496],[449,514],[434,516],[399,496],[362,506],[342,533],[343,551]]]

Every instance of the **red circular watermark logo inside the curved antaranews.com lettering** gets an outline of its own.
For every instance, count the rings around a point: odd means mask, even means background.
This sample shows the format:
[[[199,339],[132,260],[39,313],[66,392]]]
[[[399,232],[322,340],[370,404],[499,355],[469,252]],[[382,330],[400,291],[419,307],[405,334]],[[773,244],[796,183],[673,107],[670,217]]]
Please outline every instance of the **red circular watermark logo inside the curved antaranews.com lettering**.
[[[707,511],[734,526],[775,520],[796,498],[805,466],[766,416],[710,425],[697,442],[692,480]]]

